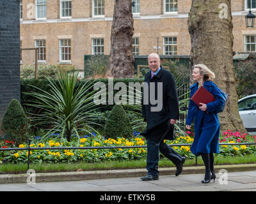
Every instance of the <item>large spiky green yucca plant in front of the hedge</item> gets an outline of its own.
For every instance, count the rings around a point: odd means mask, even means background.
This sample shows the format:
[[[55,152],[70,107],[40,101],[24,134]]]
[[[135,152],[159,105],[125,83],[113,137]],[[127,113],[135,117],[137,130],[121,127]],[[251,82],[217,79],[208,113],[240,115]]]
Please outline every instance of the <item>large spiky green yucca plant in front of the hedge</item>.
[[[74,69],[71,73],[58,72],[56,82],[51,77],[46,77],[51,87],[49,92],[33,85],[31,86],[38,91],[25,92],[32,97],[32,103],[27,105],[43,110],[41,114],[34,115],[33,122],[52,125],[52,128],[42,137],[43,140],[52,133],[60,133],[61,137],[65,136],[68,142],[74,134],[79,138],[79,132],[82,130],[98,133],[92,128],[92,125],[101,126],[93,122],[99,118],[97,113],[93,113],[97,109],[93,101],[93,94],[96,91],[90,92],[95,82],[87,80],[76,87],[78,74]],[[84,129],[85,126],[86,129]]]

